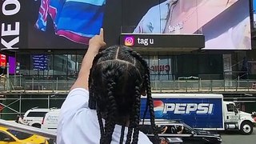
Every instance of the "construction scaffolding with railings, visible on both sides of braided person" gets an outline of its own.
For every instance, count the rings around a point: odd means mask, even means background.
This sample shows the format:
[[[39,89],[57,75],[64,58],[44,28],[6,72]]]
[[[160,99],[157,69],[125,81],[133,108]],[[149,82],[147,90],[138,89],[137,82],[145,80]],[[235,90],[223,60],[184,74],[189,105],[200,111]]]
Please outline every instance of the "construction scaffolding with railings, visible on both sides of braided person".
[[[179,78],[173,81],[152,81],[153,93],[213,93],[242,96],[241,102],[256,102],[255,80],[202,80],[201,78]],[[51,108],[62,106],[74,81],[42,80],[22,76],[1,76],[0,117],[15,118],[33,107]],[[246,99],[246,95],[251,95]],[[232,97],[229,97],[232,98]],[[233,98],[235,100],[235,98]]]

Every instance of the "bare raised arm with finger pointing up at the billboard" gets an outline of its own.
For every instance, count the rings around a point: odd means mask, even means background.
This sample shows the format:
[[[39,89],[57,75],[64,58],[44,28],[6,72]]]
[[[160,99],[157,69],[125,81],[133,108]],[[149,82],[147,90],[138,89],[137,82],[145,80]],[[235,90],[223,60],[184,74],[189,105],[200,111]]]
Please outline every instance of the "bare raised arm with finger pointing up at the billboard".
[[[106,42],[104,42],[103,29],[101,29],[99,35],[95,35],[90,39],[88,50],[82,59],[82,66],[79,71],[78,78],[70,90],[73,90],[74,88],[84,88],[88,90],[90,68],[92,66],[94,57],[98,54],[98,50],[103,46],[106,46]]]

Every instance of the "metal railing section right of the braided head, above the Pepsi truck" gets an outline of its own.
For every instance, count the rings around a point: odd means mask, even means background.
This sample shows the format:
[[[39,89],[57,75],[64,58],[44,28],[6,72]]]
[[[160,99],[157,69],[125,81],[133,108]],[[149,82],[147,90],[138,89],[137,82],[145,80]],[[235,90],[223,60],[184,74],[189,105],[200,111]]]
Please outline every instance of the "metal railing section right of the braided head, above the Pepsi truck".
[[[188,92],[256,92],[253,80],[182,80],[154,81],[152,90],[158,92],[188,93]]]

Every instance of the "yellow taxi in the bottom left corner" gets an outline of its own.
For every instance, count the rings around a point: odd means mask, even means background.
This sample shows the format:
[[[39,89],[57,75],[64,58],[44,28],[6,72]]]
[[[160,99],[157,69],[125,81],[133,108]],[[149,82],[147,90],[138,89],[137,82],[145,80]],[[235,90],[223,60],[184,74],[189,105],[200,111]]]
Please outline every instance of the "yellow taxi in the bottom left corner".
[[[0,144],[48,144],[46,138],[0,126]]]

